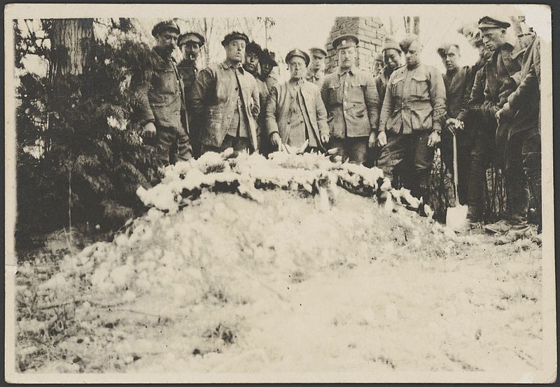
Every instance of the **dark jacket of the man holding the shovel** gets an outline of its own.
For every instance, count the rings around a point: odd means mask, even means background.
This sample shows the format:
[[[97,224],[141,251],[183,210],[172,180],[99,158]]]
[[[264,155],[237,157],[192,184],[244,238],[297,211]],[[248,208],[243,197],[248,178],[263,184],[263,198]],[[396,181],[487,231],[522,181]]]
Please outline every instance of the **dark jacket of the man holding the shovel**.
[[[474,78],[470,66],[459,67],[453,76],[444,73],[445,96],[447,101],[447,117],[464,120],[468,111],[468,99]]]

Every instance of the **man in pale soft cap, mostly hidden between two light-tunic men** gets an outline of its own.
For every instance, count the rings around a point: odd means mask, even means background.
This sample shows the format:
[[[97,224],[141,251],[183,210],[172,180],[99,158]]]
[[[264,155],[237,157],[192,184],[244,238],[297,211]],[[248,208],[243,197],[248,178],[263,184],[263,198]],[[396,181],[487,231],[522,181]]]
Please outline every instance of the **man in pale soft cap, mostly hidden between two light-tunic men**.
[[[379,115],[381,114],[381,106],[383,106],[383,99],[385,98],[385,90],[387,88],[389,77],[391,77],[391,74],[395,71],[395,69],[401,66],[401,54],[402,50],[400,50],[400,45],[398,45],[392,36],[386,36],[384,38],[383,45],[381,45],[381,55],[385,66],[373,79],[377,95],[379,96],[379,98],[374,101],[374,110],[376,112],[377,120],[376,127],[379,127]],[[370,139],[367,141],[367,146],[370,148],[372,153],[376,153],[371,156],[373,159],[372,164],[374,160],[377,159],[377,149],[375,149],[376,139],[377,132],[371,132]]]

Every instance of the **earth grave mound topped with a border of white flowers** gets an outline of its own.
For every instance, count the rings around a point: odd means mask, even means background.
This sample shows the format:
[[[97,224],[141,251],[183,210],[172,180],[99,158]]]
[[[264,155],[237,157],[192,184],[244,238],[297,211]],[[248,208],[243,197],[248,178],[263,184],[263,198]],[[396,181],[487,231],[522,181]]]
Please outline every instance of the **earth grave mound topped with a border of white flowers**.
[[[43,330],[61,336],[50,357],[80,359],[69,370],[120,369],[159,346],[155,338],[138,344],[146,331],[134,327],[182,323],[186,316],[181,332],[190,342],[176,351],[219,352],[241,339],[248,314],[285,302],[286,280],[300,283],[378,259],[452,255],[454,234],[398,205],[407,192],[389,190],[379,169],[323,155],[209,153],[168,167],[160,185],[139,189],[152,207],[144,216],[111,243],[66,256],[56,274],[27,289],[52,316],[22,318],[21,361],[44,356],[29,346]],[[406,204],[414,206],[413,198]],[[32,272],[29,265],[20,270]],[[218,313],[224,306],[227,316]],[[68,332],[74,335],[64,337]],[[77,357],[76,337],[87,342]],[[123,349],[122,342],[137,344]]]

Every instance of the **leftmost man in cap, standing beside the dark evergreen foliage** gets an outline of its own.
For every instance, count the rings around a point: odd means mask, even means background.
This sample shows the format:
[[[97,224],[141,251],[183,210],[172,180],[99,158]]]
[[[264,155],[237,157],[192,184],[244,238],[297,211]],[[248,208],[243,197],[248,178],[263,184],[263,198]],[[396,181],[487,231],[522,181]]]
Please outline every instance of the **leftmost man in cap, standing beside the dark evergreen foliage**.
[[[153,66],[149,83],[139,90],[139,115],[144,122],[144,136],[157,141],[158,166],[165,167],[171,161],[189,160],[192,150],[183,81],[172,57],[179,27],[173,20],[160,22],[152,34],[156,41]]]

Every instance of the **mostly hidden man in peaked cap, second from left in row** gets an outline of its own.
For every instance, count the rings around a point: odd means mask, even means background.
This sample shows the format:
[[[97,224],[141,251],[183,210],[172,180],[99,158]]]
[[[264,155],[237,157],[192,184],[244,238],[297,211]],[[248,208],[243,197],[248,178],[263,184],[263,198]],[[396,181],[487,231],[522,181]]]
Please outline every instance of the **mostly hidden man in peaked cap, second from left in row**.
[[[193,98],[193,91],[195,89],[195,82],[198,74],[197,59],[200,57],[200,49],[204,45],[204,36],[196,32],[186,32],[185,34],[179,35],[177,45],[179,45],[183,53],[183,60],[177,64],[177,69],[179,69],[179,74],[185,85],[190,144],[193,147],[193,156],[198,158],[200,157],[200,129],[199,125],[194,121],[195,114],[191,109],[190,101]]]

